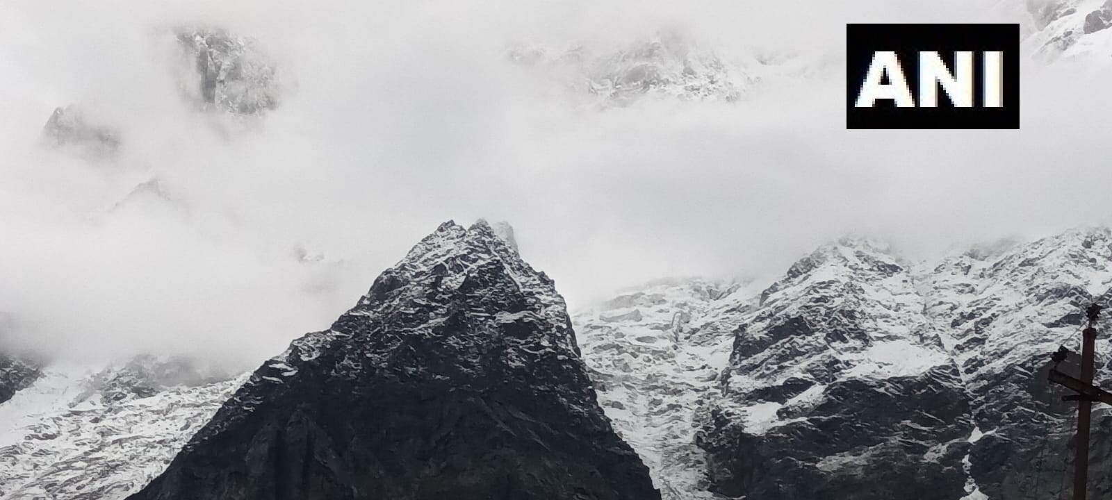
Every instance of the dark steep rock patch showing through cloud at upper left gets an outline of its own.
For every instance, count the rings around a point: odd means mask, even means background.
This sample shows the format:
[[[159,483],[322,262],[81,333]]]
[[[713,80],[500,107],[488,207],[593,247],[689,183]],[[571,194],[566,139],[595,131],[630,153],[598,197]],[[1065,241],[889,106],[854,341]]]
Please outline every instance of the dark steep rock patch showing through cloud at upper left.
[[[254,39],[219,28],[182,28],[177,38],[196,71],[186,88],[199,107],[258,114],[278,106],[276,64]]]

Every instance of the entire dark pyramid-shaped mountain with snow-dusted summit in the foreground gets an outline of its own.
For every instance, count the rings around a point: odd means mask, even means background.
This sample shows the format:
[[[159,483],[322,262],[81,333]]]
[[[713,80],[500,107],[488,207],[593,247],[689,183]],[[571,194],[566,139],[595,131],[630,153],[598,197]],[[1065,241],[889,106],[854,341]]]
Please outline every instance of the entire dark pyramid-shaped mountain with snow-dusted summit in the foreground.
[[[259,368],[132,499],[653,499],[552,280],[448,222]]]

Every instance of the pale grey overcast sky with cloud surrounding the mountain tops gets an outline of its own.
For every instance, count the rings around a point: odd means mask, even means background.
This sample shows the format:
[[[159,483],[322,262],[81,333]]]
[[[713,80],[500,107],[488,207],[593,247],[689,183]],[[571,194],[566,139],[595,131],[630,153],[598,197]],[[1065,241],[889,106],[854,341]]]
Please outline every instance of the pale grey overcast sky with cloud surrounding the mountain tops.
[[[448,219],[513,223],[578,307],[659,277],[775,274],[851,231],[925,258],[1112,213],[1095,66],[1025,64],[1019,131],[847,131],[840,67],[736,103],[595,111],[503,57],[515,40],[605,50],[671,29],[725,59],[837,61],[845,22],[983,20],[996,1],[228,3],[0,7],[9,341],[254,364],[327,328]],[[278,62],[282,103],[255,130],[221,136],[182,100],[159,33],[187,23]],[[117,161],[37,147],[75,102],[120,131]],[[151,176],[178,208],[107,211]],[[297,262],[298,246],[326,262]]]

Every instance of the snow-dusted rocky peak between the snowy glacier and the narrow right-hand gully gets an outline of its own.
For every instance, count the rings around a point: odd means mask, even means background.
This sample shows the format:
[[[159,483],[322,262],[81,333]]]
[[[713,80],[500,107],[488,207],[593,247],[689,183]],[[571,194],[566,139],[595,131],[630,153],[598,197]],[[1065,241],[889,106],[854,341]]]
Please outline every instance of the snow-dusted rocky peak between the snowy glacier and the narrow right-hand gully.
[[[698,444],[712,489],[762,499],[956,499],[969,397],[910,264],[825,246],[735,331]]]

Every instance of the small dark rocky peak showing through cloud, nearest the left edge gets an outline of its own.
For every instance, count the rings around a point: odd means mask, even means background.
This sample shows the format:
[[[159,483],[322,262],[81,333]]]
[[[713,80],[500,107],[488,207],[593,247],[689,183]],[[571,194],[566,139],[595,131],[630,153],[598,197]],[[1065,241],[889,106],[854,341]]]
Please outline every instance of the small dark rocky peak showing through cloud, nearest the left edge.
[[[112,158],[120,148],[119,134],[88,117],[77,106],[57,108],[42,127],[42,144],[90,159]]]

